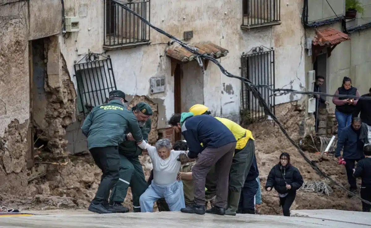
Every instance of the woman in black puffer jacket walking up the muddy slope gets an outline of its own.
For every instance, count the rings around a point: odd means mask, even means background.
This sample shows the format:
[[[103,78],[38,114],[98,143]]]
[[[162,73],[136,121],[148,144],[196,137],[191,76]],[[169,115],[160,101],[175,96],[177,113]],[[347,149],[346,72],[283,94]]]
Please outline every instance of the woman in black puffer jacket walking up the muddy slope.
[[[281,153],[279,159],[279,163],[269,172],[265,189],[276,189],[283,215],[290,216],[290,207],[295,200],[296,190],[303,185],[303,177],[299,170],[291,165],[288,153]]]

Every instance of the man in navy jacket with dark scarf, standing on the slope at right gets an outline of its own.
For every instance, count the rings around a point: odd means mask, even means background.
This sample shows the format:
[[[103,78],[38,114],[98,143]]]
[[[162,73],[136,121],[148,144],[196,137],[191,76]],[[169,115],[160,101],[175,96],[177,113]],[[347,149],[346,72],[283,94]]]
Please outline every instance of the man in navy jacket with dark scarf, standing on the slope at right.
[[[357,191],[357,182],[353,176],[355,162],[364,158],[363,146],[365,143],[360,139],[361,127],[365,127],[364,125],[362,126],[361,119],[359,117],[353,118],[351,125],[341,131],[335,150],[335,157],[341,159],[340,152],[344,148],[342,158],[346,162],[345,170],[347,171],[350,191],[353,193]],[[348,196],[351,197],[352,195]]]

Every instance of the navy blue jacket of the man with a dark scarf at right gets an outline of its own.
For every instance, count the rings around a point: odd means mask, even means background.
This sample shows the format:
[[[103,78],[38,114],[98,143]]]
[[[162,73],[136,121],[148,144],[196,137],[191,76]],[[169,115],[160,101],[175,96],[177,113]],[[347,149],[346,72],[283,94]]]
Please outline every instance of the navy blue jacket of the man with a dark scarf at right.
[[[364,158],[363,146],[364,143],[359,140],[358,132],[353,130],[352,125],[345,127],[338,138],[338,143],[336,145],[335,157],[340,156],[340,152],[343,149],[344,159],[361,159]]]

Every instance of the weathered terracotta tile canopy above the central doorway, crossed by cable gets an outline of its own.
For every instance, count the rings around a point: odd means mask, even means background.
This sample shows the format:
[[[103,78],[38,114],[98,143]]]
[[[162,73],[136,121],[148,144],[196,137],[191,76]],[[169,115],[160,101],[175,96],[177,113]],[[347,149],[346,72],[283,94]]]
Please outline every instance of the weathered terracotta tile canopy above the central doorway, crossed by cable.
[[[212,56],[216,59],[226,56],[228,54],[228,50],[224,49],[223,47],[219,47],[214,43],[211,42],[202,42],[202,43],[194,43],[189,44],[190,47],[197,47],[198,53],[200,54],[207,54],[209,56]],[[190,62],[196,59],[196,55],[194,55],[191,52],[188,52],[184,49],[182,46],[170,46],[166,50],[167,56],[177,59],[181,62]]]

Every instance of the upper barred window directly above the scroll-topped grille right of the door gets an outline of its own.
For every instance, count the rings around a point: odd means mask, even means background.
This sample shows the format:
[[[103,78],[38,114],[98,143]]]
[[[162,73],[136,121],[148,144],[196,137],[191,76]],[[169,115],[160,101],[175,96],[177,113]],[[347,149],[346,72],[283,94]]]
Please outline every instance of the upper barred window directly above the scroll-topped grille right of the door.
[[[280,0],[242,0],[242,29],[281,24]]]

